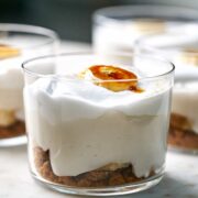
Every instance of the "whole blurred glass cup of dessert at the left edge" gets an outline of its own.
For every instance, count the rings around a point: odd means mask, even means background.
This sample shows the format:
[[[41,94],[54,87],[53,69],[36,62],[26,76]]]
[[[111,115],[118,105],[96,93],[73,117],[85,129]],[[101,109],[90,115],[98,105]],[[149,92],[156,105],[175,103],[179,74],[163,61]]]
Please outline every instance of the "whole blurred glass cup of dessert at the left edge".
[[[26,143],[21,64],[56,53],[55,32],[33,25],[0,23],[0,146]]]

